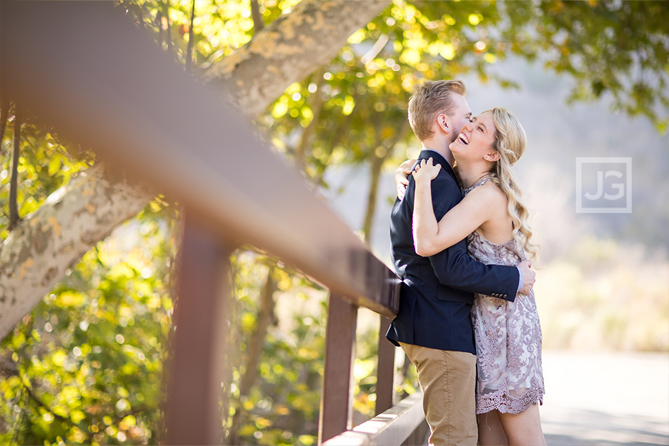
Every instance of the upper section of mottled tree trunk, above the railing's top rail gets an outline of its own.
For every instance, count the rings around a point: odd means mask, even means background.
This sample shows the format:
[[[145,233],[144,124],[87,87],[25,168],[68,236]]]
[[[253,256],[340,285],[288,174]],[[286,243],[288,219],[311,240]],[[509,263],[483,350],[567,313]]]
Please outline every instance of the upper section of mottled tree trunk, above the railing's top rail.
[[[348,37],[377,17],[390,0],[303,0],[239,50],[203,72],[250,118],[288,86],[330,62]]]

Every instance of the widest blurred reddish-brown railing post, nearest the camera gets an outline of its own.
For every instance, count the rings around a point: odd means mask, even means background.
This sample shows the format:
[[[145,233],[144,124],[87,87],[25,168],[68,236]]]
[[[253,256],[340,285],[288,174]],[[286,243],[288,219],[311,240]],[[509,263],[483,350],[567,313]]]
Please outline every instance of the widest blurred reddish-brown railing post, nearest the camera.
[[[186,211],[168,383],[168,445],[221,444],[230,249]]]

